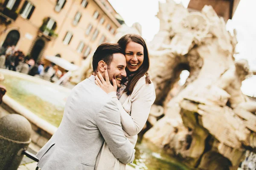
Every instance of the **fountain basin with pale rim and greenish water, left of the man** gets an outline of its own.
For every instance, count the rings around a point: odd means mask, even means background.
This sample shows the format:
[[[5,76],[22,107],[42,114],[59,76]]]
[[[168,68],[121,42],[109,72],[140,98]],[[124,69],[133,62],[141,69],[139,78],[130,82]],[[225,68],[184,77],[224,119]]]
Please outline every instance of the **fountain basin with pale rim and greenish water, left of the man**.
[[[0,69],[0,72],[5,77],[0,84],[7,89],[3,102],[35,125],[49,127],[47,131],[53,134],[61,123],[71,90],[15,71]]]

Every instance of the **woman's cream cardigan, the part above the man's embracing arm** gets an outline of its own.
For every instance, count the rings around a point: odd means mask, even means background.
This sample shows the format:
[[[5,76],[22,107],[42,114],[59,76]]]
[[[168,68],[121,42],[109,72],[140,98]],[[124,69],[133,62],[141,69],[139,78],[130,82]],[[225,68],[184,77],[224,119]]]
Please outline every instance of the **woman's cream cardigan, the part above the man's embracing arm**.
[[[146,84],[146,76],[141,77],[131,95],[122,94],[118,100],[115,92],[109,93],[112,98],[115,98],[116,105],[118,105],[121,114],[121,124],[125,131],[125,136],[134,145],[137,142],[137,134],[144,127],[151,105],[156,99],[153,83]]]

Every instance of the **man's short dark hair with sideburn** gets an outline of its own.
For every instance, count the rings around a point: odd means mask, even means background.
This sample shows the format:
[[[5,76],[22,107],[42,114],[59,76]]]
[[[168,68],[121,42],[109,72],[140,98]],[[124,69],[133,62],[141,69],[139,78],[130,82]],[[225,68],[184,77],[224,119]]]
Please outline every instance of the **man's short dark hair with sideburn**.
[[[93,54],[93,71],[97,70],[100,60],[103,60],[109,67],[111,62],[113,61],[113,54],[116,53],[124,54],[124,51],[117,43],[114,44],[106,42],[102,45],[99,45],[99,47]]]

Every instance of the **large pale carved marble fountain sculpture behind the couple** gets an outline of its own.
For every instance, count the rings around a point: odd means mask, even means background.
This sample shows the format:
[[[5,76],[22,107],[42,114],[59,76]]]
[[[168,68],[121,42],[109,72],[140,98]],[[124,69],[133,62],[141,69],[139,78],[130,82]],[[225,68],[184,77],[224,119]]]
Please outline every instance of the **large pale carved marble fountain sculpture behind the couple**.
[[[256,102],[242,94],[241,82],[252,74],[246,60],[235,61],[236,30],[212,6],[189,12],[173,0],[159,3],[160,30],[148,48],[156,101],[143,139],[202,170],[235,170],[246,150],[256,147]],[[122,26],[141,35],[141,27]],[[80,78],[91,74],[91,58]],[[170,91],[189,71],[179,93]],[[148,130],[149,129],[149,130]]]

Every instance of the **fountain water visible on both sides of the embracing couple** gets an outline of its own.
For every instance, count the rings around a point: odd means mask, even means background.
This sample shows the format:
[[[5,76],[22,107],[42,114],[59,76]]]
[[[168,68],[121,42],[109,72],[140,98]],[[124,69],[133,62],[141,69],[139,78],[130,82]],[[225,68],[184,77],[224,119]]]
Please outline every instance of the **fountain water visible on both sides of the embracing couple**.
[[[42,85],[41,81],[28,81],[15,75],[5,75],[0,82],[7,89],[7,95],[41,119],[58,127],[61,122],[69,91]],[[136,170],[190,170],[177,159],[150,147],[146,142],[137,142],[132,167]],[[152,149],[154,148],[154,149]]]

